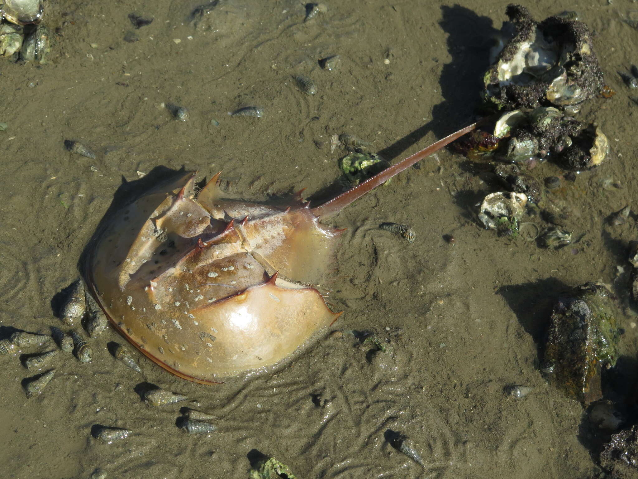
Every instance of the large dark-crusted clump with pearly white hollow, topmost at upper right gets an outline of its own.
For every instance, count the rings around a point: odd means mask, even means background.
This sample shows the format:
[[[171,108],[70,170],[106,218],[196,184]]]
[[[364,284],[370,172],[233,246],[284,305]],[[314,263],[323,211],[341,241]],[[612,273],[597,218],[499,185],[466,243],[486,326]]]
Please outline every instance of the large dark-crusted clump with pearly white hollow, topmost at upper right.
[[[602,72],[587,27],[556,15],[542,22],[520,5],[505,11],[493,64],[484,75],[484,100],[497,109],[575,105],[595,96]]]

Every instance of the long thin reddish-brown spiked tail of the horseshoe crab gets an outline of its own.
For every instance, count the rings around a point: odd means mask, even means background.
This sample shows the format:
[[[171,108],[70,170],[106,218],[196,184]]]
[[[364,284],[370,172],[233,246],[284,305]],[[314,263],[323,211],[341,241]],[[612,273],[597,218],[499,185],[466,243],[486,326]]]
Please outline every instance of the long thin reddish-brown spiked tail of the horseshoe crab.
[[[427,146],[427,148],[422,149],[421,151],[417,151],[414,155],[410,155],[407,158],[404,158],[400,162],[396,163],[396,165],[392,165],[391,167],[383,170],[382,172],[376,174],[372,178],[366,179],[366,181],[359,183],[357,186],[353,186],[350,190],[334,197],[333,199],[326,201],[319,206],[315,206],[315,208],[311,208],[313,214],[317,217],[326,217],[332,215],[333,213],[337,213],[341,211],[341,209],[348,206],[348,204],[352,203],[356,199],[362,197],[373,188],[385,183],[392,176],[399,174],[404,169],[411,167],[414,163],[426,158],[426,156],[432,155],[436,151],[440,150],[447,144],[450,144],[457,138],[463,136],[465,133],[471,132],[474,130],[477,125],[480,123],[472,123],[465,128],[461,128],[461,130],[448,135],[447,137],[440,139],[439,141]]]

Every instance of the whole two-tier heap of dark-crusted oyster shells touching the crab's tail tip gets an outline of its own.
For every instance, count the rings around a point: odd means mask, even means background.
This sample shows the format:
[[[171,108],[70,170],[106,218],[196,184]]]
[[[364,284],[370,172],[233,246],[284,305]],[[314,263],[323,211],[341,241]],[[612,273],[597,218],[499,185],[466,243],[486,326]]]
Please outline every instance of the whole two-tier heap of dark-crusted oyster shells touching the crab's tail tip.
[[[457,146],[470,159],[523,162],[551,158],[582,171],[609,155],[607,137],[574,118],[582,102],[604,88],[587,27],[570,15],[536,22],[526,8],[509,5],[482,98],[499,118]]]

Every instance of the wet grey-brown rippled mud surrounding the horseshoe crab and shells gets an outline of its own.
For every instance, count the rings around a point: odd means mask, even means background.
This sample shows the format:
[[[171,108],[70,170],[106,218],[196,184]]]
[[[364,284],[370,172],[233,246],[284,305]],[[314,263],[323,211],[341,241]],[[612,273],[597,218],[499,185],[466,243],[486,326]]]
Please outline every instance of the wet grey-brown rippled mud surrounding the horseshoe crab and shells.
[[[394,162],[470,123],[507,3],[335,3],[304,22],[297,1],[221,0],[193,24],[197,4],[59,1],[47,5],[45,23],[59,28],[50,65],[1,62],[0,338],[60,326],[56,294],[78,277],[85,245],[138,172],[223,171],[228,194],[252,200],[302,187],[325,197],[345,154],[330,152],[330,135],[362,137]],[[575,8],[618,92],[578,117],[607,134],[609,160],[552,193],[577,243],[544,250],[482,229],[474,212],[491,186],[441,151],[329,220],[347,228],[339,273],[325,284],[345,311],[333,329],[388,335],[395,360],[371,357],[346,333],[276,372],[203,386],[137,354],[144,375],[127,369],[107,351],[123,342],[109,328],[91,341],[91,363],[58,354],[56,377],[26,399],[20,382],[33,374],[16,356],[0,356],[3,476],[87,478],[103,468],[121,479],[244,479],[255,450],[300,478],[595,475],[600,437],[590,435],[581,404],[538,372],[538,343],[556,293],[600,279],[625,329],[619,367],[635,379],[626,259],[635,220],[605,222],[637,197],[638,105],[629,96],[638,94],[616,74],[638,62],[638,32],[621,22],[631,5],[529,5],[536,19]],[[135,29],[129,13],[154,20]],[[128,32],[138,41],[125,42]],[[336,70],[322,70],[318,59],[332,54],[341,56]],[[315,80],[316,95],[299,91],[299,74]],[[167,103],[186,107],[189,121],[175,121]],[[246,105],[263,117],[228,116]],[[66,151],[66,139],[96,159]],[[562,173],[551,163],[534,170],[537,178]],[[416,241],[376,228],[382,222],[410,224]],[[140,400],[147,383],[197,400],[219,416],[219,430],[185,434],[175,423],[182,404]],[[505,397],[512,383],[533,393]],[[96,424],[134,432],[107,445],[91,436]],[[389,445],[392,431],[419,444],[425,470]]]

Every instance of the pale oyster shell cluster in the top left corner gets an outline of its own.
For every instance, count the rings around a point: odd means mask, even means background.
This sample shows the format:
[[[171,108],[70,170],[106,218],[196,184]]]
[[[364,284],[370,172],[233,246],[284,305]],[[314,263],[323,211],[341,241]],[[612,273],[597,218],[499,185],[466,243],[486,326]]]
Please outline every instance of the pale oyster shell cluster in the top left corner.
[[[47,63],[50,32],[40,25],[44,5],[40,0],[3,0],[0,4],[0,56]]]

